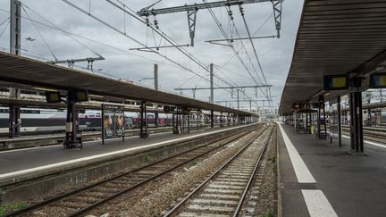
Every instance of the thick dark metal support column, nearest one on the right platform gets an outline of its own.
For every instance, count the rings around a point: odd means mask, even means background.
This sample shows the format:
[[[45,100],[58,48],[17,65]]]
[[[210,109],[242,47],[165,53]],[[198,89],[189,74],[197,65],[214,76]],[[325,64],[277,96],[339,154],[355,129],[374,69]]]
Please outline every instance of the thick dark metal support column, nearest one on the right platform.
[[[350,103],[350,143],[351,151],[363,153],[363,114],[362,114],[362,93],[351,92],[349,95]]]

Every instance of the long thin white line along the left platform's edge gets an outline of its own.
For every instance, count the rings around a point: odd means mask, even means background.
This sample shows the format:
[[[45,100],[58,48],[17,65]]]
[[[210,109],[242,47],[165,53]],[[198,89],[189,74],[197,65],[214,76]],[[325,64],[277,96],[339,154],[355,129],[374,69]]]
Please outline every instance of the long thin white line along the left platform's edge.
[[[234,127],[234,128],[231,128],[231,129],[239,129],[239,128],[246,127],[248,125]],[[214,131],[210,131],[210,132],[206,132],[206,133],[201,133],[201,134],[197,134],[197,135],[193,135],[193,136],[189,136],[189,137],[175,138],[175,139],[171,139],[171,140],[167,140],[167,141],[163,141],[163,142],[149,144],[149,145],[146,145],[146,146],[130,147],[130,148],[122,149],[122,150],[119,150],[119,151],[113,151],[113,152],[109,152],[109,153],[105,153],[105,154],[96,154],[96,155],[82,157],[82,158],[78,158],[78,159],[74,159],[74,160],[70,160],[70,161],[47,164],[47,165],[44,165],[44,166],[39,166],[39,167],[30,168],[30,169],[26,169],[26,170],[12,171],[12,172],[8,172],[8,173],[0,174],[0,179],[4,179],[4,178],[8,178],[8,177],[13,177],[13,176],[17,176],[17,175],[21,175],[21,174],[25,174],[25,173],[29,173],[29,172],[43,171],[43,170],[46,170],[46,169],[51,169],[51,168],[55,168],[55,167],[59,167],[59,166],[70,165],[71,163],[85,162],[85,161],[89,161],[89,160],[94,160],[96,158],[101,158],[101,157],[105,157],[105,156],[111,156],[111,155],[114,155],[114,154],[123,154],[123,153],[127,153],[127,152],[138,150],[138,149],[143,149],[143,148],[147,148],[147,147],[160,146],[160,145],[163,145],[163,144],[166,144],[166,143],[169,143],[169,142],[178,142],[180,140],[184,140],[184,139],[187,139],[187,138],[204,137],[204,136],[211,135],[211,134],[218,133],[218,132],[222,132],[222,131],[225,131],[225,130],[229,130],[229,129],[214,130]]]

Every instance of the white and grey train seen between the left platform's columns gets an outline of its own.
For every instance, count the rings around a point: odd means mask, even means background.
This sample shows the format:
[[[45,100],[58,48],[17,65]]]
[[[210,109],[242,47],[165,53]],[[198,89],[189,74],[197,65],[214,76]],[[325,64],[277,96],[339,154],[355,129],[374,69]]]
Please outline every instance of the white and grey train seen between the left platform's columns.
[[[21,108],[21,135],[60,133],[65,130],[66,111],[55,109]],[[125,129],[139,127],[138,113],[124,113]],[[155,114],[147,113],[147,126],[155,127]],[[0,107],[0,135],[8,134],[9,110]],[[84,131],[101,130],[101,112],[86,110],[79,114],[80,129]],[[158,114],[160,127],[172,126],[172,114]]]

